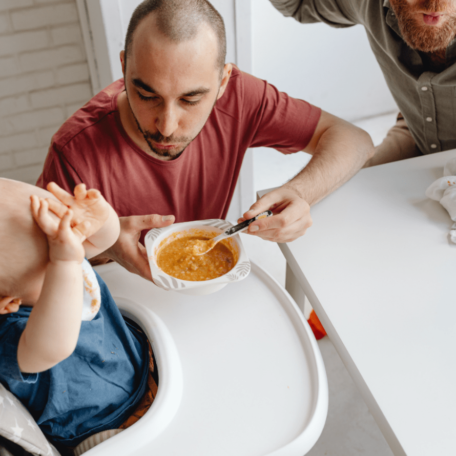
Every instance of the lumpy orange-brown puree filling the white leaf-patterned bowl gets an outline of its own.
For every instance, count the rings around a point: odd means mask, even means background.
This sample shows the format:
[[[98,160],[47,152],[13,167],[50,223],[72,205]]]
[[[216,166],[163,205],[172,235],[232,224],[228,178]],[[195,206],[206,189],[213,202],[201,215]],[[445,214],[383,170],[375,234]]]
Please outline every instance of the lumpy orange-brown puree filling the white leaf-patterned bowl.
[[[236,254],[229,243],[217,242],[203,255],[193,253],[194,246],[211,236],[192,235],[174,240],[165,238],[157,252],[157,266],[166,274],[181,280],[203,281],[223,276],[236,264]]]

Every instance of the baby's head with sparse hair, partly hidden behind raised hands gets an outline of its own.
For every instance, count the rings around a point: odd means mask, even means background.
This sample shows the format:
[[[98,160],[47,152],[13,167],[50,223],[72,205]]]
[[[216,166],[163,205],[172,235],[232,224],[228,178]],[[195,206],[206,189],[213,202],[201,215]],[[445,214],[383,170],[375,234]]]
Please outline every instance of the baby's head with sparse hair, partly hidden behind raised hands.
[[[34,185],[0,178],[0,314],[33,305],[49,262],[46,235],[35,223],[30,196],[55,198]]]

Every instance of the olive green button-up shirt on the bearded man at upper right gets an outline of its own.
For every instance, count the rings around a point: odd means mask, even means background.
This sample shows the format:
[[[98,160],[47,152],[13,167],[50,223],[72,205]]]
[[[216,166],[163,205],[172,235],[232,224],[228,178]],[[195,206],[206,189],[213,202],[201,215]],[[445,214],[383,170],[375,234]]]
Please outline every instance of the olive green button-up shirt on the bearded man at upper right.
[[[446,61],[452,64],[435,73],[426,71],[420,52],[404,42],[389,0],[270,1],[283,15],[302,23],[362,24],[420,151],[430,154],[456,148],[456,39],[446,50]]]

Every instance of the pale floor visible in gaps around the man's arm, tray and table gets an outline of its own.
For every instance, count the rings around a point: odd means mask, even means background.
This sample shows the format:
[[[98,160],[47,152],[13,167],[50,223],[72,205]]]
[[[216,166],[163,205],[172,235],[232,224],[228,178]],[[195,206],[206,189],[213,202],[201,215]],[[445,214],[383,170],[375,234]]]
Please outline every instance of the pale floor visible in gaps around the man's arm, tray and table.
[[[379,144],[395,123],[397,113],[355,122]],[[306,164],[307,154],[283,156],[270,149],[255,150],[255,190],[281,185]],[[241,234],[248,256],[285,284],[285,259],[275,243]],[[351,380],[334,345],[324,337],[318,341],[329,384],[329,409],[320,439],[308,456],[392,456],[374,418]]]

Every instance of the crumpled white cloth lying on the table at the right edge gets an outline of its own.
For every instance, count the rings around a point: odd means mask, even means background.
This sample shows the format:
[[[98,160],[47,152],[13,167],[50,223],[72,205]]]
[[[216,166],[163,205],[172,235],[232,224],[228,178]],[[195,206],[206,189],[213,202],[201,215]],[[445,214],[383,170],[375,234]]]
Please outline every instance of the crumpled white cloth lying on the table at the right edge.
[[[456,222],[456,157],[445,165],[443,177],[428,186],[426,196],[440,201],[440,204],[450,214],[451,220]],[[456,223],[451,226],[450,238],[456,244]]]

